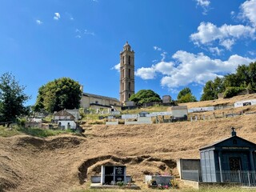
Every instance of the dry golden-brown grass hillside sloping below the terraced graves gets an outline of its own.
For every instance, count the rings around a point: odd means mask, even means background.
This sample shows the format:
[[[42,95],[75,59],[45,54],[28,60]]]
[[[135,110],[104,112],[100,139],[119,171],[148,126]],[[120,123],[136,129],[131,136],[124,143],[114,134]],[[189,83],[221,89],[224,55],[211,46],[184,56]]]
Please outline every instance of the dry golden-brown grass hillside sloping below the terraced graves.
[[[256,94],[222,102],[256,98]],[[189,107],[213,106],[210,102]],[[256,106],[239,110],[256,111]],[[210,113],[210,112],[208,112]],[[222,111],[219,111],[222,113]],[[65,134],[51,138],[17,135],[0,138],[0,191],[72,191],[86,188],[91,174],[103,164],[127,166],[127,174],[142,182],[144,174],[177,174],[177,158],[199,158],[198,148],[238,136],[256,142],[256,114],[198,122],[140,126],[85,126],[85,136]]]

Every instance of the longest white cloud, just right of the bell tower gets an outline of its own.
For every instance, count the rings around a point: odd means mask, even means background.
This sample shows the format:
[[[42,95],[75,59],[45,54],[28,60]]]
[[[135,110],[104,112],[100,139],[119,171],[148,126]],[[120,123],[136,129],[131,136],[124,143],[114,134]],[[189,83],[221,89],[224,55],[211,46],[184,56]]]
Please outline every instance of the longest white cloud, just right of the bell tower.
[[[247,65],[256,59],[234,54],[228,60],[222,61],[202,53],[192,54],[184,50],[178,50],[172,58],[173,62],[158,62],[150,67],[142,67],[135,72],[135,75],[142,79],[154,79],[157,75],[162,75],[161,86],[175,89],[190,83],[203,85],[220,74],[234,73],[238,65]]]

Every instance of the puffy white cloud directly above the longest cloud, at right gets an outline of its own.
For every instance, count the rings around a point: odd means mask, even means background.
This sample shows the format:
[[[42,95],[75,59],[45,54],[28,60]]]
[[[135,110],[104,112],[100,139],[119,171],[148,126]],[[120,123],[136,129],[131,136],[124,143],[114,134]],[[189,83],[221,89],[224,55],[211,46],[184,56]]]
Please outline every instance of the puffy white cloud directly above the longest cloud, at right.
[[[219,45],[224,46],[230,50],[235,43],[235,40],[239,38],[255,38],[255,28],[251,26],[243,25],[222,25],[220,27],[215,26],[210,22],[201,22],[198,26],[198,32],[191,34],[190,39],[195,45],[211,45],[214,42],[218,42]]]

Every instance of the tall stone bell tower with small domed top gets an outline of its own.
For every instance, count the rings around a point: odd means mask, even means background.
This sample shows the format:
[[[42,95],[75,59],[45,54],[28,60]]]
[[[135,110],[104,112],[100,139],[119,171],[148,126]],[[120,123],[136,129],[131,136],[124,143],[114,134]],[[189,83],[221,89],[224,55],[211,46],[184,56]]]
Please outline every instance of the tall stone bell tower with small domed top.
[[[134,94],[134,50],[126,42],[120,53],[120,102],[122,105]]]

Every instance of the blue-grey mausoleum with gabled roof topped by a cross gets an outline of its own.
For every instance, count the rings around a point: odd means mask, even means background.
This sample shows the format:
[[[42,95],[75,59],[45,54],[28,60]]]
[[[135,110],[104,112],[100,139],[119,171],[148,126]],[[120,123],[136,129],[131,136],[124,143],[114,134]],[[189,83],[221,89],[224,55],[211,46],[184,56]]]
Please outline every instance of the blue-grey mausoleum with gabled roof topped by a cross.
[[[256,182],[256,178],[251,178],[251,172],[248,172],[253,171],[255,175],[256,144],[238,137],[234,128],[230,138],[199,150],[202,182],[243,182],[243,178]],[[250,174],[250,177],[243,177],[243,173]]]

